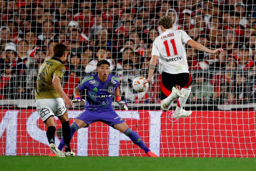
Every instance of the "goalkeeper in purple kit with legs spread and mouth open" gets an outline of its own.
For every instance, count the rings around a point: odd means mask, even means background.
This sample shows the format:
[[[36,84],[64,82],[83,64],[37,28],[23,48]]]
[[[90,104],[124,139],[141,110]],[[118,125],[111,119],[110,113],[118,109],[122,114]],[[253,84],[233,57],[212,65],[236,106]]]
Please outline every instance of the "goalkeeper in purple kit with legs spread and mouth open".
[[[70,126],[71,138],[79,128],[88,127],[93,122],[101,121],[123,132],[133,143],[142,148],[147,156],[158,157],[147,148],[141,137],[115,113],[111,105],[113,95],[120,106],[124,107],[125,110],[128,110],[128,108],[126,102],[120,98],[119,78],[109,74],[110,63],[106,60],[99,61],[97,63],[97,72],[97,74],[85,77],[81,84],[74,89],[75,99],[72,102],[85,102],[80,97],[80,92],[85,89],[87,89],[88,98],[86,99],[84,111],[77,116]],[[62,139],[58,149],[62,150],[64,145],[65,143]]]

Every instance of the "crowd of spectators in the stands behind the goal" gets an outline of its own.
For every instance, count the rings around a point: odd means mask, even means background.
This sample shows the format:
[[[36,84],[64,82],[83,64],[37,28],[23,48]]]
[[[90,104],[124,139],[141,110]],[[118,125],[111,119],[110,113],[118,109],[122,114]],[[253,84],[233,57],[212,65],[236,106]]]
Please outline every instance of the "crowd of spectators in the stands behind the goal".
[[[123,99],[160,103],[157,69],[146,92],[136,93],[132,80],[147,75],[152,43],[162,33],[157,20],[165,15],[173,29],[227,50],[212,55],[186,45],[190,103],[254,102],[256,6],[248,0],[0,0],[0,99],[33,99],[40,65],[58,42],[68,47],[63,87],[70,98],[106,59]]]

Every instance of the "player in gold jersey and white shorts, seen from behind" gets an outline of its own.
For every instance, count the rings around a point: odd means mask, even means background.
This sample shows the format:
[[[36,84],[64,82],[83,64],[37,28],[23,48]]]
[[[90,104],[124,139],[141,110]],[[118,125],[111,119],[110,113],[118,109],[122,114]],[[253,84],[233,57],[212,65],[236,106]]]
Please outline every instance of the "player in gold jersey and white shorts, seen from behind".
[[[68,109],[73,104],[62,89],[61,80],[65,73],[64,62],[67,58],[67,47],[57,43],[52,46],[53,57],[44,61],[38,72],[37,86],[35,89],[36,109],[47,127],[46,137],[51,151],[58,157],[75,156],[70,149],[70,127]],[[57,116],[62,125],[65,152],[55,146],[54,134],[56,126],[53,116]]]

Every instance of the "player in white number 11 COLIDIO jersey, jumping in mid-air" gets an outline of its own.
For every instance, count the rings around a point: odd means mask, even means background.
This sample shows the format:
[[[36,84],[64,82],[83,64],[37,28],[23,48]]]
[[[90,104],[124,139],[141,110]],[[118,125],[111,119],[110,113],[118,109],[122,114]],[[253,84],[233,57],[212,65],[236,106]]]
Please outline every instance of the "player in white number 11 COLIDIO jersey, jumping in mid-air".
[[[164,112],[168,111],[173,100],[179,98],[173,117],[183,118],[192,113],[191,111],[185,111],[183,107],[191,92],[193,82],[188,71],[185,43],[196,50],[212,54],[226,51],[222,48],[210,50],[192,40],[185,31],[172,30],[172,19],[168,16],[160,18],[158,24],[163,33],[153,42],[149,75],[148,79],[145,79],[143,83],[150,82],[158,58],[158,71],[162,74],[160,91],[161,109]],[[181,91],[175,85],[179,85],[182,88]]]

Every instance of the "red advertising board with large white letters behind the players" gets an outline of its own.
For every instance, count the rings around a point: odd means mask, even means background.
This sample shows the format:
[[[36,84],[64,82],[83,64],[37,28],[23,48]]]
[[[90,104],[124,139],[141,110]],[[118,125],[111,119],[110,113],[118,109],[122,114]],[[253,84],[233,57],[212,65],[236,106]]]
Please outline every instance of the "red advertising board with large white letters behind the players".
[[[80,113],[69,110],[70,124]],[[255,157],[255,112],[193,111],[173,119],[173,111],[116,110],[151,151],[162,157]],[[56,118],[56,129],[61,127]],[[60,140],[56,137],[58,145]],[[71,140],[78,156],[146,156],[123,133],[96,122]],[[44,126],[36,110],[0,111],[0,155],[48,155]]]

